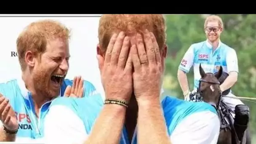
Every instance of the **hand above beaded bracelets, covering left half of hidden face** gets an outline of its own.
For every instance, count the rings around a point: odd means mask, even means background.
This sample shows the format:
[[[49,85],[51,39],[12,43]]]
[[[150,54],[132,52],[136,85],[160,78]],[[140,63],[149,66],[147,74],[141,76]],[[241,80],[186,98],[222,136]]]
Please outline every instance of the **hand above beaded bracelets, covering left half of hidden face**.
[[[105,60],[97,55],[101,82],[106,99],[129,101],[132,93],[132,62],[129,56],[130,38],[124,32],[112,35]]]

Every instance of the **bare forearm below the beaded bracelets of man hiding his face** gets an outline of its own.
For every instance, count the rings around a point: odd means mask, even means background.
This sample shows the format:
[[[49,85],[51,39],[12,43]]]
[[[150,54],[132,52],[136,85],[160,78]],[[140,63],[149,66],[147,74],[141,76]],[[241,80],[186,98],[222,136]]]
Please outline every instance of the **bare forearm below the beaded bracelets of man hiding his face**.
[[[84,144],[119,144],[126,107],[105,104]]]

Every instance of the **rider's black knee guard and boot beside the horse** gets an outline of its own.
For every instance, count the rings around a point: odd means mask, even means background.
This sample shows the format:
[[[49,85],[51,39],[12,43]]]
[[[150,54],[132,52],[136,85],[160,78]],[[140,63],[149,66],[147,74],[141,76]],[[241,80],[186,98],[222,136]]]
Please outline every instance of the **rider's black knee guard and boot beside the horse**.
[[[239,104],[235,107],[234,128],[239,141],[242,141],[244,132],[248,127],[249,114],[250,110],[248,106]]]

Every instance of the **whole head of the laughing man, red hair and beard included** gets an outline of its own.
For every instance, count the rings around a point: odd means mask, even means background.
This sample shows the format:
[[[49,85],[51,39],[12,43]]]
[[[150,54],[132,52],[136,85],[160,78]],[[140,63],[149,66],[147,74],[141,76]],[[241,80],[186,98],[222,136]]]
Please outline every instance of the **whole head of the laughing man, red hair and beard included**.
[[[29,24],[17,38],[17,52],[26,87],[46,98],[59,96],[69,69],[70,31],[54,20]]]

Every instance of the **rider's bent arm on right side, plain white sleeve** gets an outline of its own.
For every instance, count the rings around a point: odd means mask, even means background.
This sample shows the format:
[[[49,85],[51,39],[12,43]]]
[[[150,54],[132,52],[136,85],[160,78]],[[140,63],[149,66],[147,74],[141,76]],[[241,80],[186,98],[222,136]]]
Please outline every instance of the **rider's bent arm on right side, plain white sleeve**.
[[[237,82],[238,77],[238,61],[237,54],[234,49],[230,49],[230,51],[227,53],[226,61],[229,76],[220,85],[221,91],[226,91],[227,89],[231,88]]]

